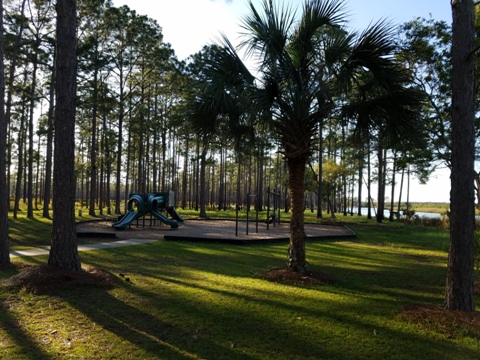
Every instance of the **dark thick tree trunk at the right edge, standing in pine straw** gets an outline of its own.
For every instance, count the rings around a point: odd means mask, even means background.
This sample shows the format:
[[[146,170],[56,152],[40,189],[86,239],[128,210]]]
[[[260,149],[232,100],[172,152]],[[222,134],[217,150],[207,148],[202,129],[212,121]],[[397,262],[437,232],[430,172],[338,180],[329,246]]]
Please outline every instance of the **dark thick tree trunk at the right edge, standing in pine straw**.
[[[475,311],[475,16],[473,0],[452,0],[452,174],[445,307]]]

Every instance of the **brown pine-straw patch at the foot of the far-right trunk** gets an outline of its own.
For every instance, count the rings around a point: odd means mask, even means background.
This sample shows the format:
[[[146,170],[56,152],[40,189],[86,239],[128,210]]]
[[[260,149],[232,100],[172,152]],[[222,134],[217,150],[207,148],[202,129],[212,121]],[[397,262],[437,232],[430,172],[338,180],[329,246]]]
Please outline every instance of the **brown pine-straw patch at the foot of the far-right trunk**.
[[[438,305],[408,305],[399,313],[402,319],[447,338],[469,335],[480,337],[480,313],[452,311]]]

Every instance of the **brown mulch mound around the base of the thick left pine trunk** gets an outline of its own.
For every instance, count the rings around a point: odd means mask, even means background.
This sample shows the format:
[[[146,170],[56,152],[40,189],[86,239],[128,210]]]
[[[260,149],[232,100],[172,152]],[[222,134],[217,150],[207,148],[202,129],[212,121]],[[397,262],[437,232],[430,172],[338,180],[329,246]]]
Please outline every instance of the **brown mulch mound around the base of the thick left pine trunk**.
[[[44,293],[51,290],[77,286],[109,287],[116,280],[108,271],[88,267],[81,271],[69,271],[57,267],[15,263],[19,274],[0,282],[0,286],[14,286],[34,293]]]

